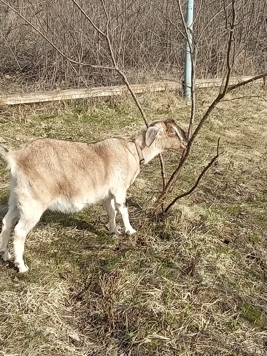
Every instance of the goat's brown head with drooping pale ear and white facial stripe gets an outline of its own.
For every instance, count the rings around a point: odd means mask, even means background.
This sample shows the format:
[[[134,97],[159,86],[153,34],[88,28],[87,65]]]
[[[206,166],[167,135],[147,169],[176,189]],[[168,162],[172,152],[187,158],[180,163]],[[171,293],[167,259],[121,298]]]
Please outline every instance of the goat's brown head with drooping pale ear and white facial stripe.
[[[189,143],[189,138],[173,119],[167,119],[148,125],[146,146],[150,147],[153,142],[163,150],[184,150]]]

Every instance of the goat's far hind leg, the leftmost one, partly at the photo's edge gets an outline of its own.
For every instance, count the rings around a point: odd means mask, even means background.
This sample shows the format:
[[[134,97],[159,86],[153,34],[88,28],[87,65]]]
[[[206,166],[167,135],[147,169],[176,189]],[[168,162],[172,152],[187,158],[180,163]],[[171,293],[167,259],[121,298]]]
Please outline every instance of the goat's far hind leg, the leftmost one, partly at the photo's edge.
[[[14,192],[10,192],[9,210],[2,220],[2,231],[0,234],[0,256],[4,261],[9,261],[11,256],[8,251],[8,243],[11,231],[15,226],[19,217],[19,209],[17,208],[17,198]]]

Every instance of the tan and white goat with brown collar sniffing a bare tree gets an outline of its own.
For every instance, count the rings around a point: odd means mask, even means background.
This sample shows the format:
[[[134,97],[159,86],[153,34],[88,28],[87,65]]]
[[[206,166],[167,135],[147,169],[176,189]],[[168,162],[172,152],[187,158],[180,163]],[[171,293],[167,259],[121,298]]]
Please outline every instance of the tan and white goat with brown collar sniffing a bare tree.
[[[16,151],[0,145],[0,156],[10,171],[9,210],[2,220],[0,256],[4,261],[10,259],[9,237],[16,225],[14,263],[19,272],[27,272],[25,239],[46,209],[72,213],[100,200],[109,216],[109,233],[120,234],[116,203],[126,234],[134,234],[126,191],[140,172],[140,164],[164,150],[184,149],[188,142],[185,132],[167,119],[151,123],[131,140],[84,143],[36,138]]]

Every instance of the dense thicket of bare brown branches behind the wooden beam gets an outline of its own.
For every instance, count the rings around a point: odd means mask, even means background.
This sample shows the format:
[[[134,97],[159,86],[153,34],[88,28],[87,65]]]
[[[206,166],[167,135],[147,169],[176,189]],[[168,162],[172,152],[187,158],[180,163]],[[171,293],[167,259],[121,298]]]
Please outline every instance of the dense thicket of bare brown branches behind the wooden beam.
[[[6,0],[76,62],[110,66],[106,41],[72,0]],[[78,0],[100,30],[106,14],[98,0]],[[123,84],[113,70],[71,63],[11,9],[0,3],[1,91],[53,90]],[[182,3],[184,9],[185,4]],[[198,78],[223,77],[228,32],[224,0],[195,0],[194,35],[198,41]],[[236,1],[235,67],[232,75],[256,75],[266,68],[267,20],[264,0]],[[110,0],[106,2],[115,61],[131,83],[182,80],[183,23],[178,1]],[[23,84],[24,81],[24,84]],[[22,86],[21,86],[22,83]]]

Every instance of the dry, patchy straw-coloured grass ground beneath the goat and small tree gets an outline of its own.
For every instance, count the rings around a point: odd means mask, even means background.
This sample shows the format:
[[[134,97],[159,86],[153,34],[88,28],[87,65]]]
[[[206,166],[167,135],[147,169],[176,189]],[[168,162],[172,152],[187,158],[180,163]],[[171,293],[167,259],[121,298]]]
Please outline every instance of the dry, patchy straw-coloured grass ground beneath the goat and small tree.
[[[198,93],[196,120],[215,94]],[[235,97],[247,95],[266,93],[251,88]],[[186,129],[190,108],[175,94],[140,100],[150,120],[171,109]],[[8,107],[0,142],[96,141],[143,128],[127,98]],[[158,158],[142,169],[128,192],[136,236],[108,235],[100,204],[73,215],[45,213],[27,237],[30,271],[19,275],[0,262],[0,355],[266,355],[266,100],[218,105],[173,196],[192,187],[218,137],[220,158],[168,214],[152,208],[161,189]],[[164,153],[168,175],[179,157]],[[3,167],[0,183],[2,218],[9,186]]]

